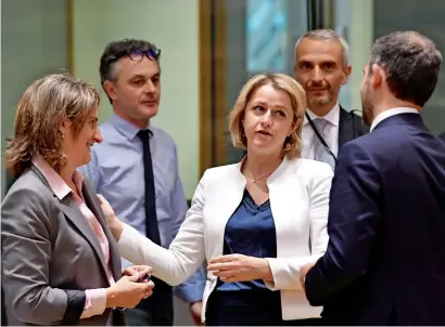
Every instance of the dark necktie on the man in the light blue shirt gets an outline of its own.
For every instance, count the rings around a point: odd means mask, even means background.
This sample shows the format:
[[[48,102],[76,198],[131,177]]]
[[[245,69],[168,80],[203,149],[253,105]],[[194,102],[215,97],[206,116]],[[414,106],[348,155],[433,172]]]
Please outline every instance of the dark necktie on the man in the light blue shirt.
[[[160,230],[157,227],[156,195],[154,191],[153,162],[150,152],[150,130],[140,130],[138,136],[143,145],[143,172],[145,181],[145,228],[147,237],[157,245],[161,245]]]

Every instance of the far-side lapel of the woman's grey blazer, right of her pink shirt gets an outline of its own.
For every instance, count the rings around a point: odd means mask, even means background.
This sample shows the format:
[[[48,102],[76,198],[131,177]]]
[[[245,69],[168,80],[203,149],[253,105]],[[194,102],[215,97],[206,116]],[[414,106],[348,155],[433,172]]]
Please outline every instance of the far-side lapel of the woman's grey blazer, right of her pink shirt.
[[[109,225],[106,224],[105,218],[103,217],[103,212],[100,207],[100,204],[96,198],[96,194],[91,192],[91,189],[92,188],[90,187],[90,185],[84,181],[82,195],[85,198],[85,202],[91,210],[91,212],[96,215],[96,218],[102,226],[103,232],[105,233],[110,246],[110,260],[113,270],[113,277],[115,280],[118,280],[122,277],[120,257],[118,254],[119,250],[117,248],[117,244],[114,240],[112,233],[109,230]]]

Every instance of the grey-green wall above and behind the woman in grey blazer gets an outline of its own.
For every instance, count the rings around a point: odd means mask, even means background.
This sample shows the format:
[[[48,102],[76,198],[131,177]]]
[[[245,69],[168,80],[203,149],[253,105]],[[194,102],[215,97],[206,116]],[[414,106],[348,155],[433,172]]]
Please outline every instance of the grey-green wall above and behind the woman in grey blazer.
[[[15,107],[34,80],[67,68],[62,0],[1,0],[1,153],[13,133]],[[1,157],[1,198],[7,178]]]

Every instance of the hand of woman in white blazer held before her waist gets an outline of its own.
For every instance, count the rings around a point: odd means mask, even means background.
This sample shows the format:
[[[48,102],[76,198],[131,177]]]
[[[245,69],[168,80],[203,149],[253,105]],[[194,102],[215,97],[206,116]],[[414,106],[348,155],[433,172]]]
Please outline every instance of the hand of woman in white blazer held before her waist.
[[[226,283],[274,280],[269,263],[263,258],[227,254],[212,258],[208,263],[207,270]]]

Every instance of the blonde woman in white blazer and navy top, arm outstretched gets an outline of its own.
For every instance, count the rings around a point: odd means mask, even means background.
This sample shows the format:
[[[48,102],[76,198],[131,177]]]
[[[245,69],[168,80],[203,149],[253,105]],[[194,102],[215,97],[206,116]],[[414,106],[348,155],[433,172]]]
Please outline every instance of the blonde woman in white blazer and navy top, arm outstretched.
[[[247,154],[205,171],[169,249],[122,223],[102,199],[122,256],[151,265],[156,277],[181,284],[207,260],[206,325],[319,323],[300,269],[326,251],[333,172],[300,158],[305,108],[303,88],[285,75],[244,86],[229,121],[233,145]]]

